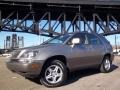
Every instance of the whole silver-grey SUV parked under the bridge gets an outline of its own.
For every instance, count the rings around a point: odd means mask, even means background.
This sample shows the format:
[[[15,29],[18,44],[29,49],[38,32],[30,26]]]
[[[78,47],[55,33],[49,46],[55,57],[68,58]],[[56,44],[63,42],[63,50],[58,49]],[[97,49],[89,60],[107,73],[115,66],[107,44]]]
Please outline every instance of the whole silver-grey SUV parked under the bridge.
[[[39,77],[47,87],[65,83],[68,72],[99,68],[110,72],[113,52],[101,35],[77,32],[56,36],[35,47],[15,50],[6,62],[8,69],[25,77]]]

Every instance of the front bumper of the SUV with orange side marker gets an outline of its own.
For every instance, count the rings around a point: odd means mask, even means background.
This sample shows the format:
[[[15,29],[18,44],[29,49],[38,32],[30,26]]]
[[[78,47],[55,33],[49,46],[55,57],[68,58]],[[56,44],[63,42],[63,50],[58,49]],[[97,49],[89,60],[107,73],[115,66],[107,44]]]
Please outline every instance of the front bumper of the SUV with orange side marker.
[[[34,78],[38,77],[41,73],[43,61],[34,60],[31,63],[13,62],[12,60],[6,62],[7,68],[16,72],[24,77]]]

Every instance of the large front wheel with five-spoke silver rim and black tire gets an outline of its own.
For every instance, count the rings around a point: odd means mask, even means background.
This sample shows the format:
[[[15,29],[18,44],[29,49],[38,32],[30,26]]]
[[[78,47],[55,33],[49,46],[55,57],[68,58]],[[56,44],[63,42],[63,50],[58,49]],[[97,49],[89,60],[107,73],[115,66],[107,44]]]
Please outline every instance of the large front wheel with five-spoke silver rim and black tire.
[[[41,84],[46,87],[58,87],[65,83],[67,79],[67,68],[59,60],[52,61],[42,72]]]

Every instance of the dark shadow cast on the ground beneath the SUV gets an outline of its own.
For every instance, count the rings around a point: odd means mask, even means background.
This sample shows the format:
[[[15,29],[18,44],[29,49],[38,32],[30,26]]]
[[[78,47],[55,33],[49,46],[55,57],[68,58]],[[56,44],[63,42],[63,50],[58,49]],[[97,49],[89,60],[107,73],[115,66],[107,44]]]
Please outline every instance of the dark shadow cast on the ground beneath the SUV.
[[[116,70],[118,68],[118,66],[116,65],[113,65],[112,66],[112,71]],[[79,71],[75,71],[75,72],[72,72],[70,73],[70,75],[68,76],[68,79],[66,81],[66,83],[63,85],[69,85],[71,83],[74,83],[76,81],[78,81],[80,78],[82,77],[86,77],[86,76],[90,76],[90,75],[95,75],[95,74],[98,74],[100,73],[100,71],[98,69],[85,69],[85,70],[79,70]],[[39,85],[42,85],[40,82],[39,82],[39,78],[26,78],[36,84],[39,84]]]

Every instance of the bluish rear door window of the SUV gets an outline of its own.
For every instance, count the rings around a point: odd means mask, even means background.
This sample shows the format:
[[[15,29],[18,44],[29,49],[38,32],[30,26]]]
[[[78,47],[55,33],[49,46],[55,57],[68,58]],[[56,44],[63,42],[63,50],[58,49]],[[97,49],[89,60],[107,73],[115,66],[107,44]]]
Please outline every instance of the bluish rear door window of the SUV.
[[[92,35],[92,34],[88,34],[88,42],[89,44],[92,44],[92,45],[100,45],[102,44],[102,42],[100,41],[100,39],[95,36],[95,35]]]

